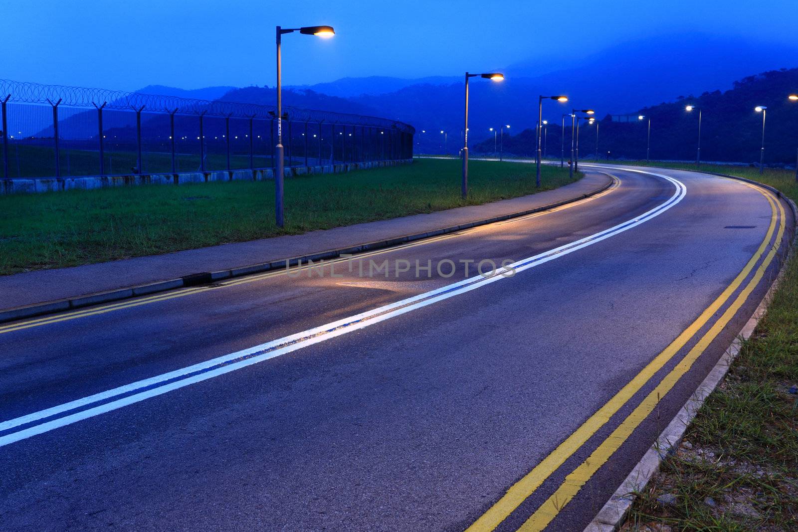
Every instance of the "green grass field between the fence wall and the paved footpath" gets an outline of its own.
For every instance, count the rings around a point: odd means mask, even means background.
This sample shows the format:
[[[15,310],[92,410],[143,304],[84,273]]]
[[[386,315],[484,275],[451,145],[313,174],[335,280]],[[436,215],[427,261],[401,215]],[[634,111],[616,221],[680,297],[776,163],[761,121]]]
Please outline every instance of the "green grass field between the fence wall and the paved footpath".
[[[115,187],[0,195],[0,274],[298,234],[533,194],[569,183],[567,169],[472,161],[468,200],[459,160],[286,179],[286,227],[272,181]]]

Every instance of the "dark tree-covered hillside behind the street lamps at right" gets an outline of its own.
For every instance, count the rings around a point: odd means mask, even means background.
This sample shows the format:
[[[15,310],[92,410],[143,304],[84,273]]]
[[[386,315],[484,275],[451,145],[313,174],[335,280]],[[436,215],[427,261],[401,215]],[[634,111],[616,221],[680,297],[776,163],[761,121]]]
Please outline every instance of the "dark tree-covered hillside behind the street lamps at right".
[[[759,162],[762,113],[754,107],[767,107],[764,139],[765,164],[795,164],[798,148],[798,101],[788,100],[798,93],[798,69],[761,73],[736,81],[725,93],[714,91],[700,97],[678,97],[630,113],[630,121],[599,120],[599,156],[614,159],[645,159],[648,120],[651,119],[651,159],[694,160],[698,140],[698,111],[685,110],[693,104],[701,108],[701,160]],[[600,110],[599,110],[600,111]],[[600,112],[599,112],[600,114]],[[637,115],[645,116],[638,120]],[[556,123],[553,123],[556,122]],[[547,125],[547,155],[559,158],[562,131],[560,120]],[[579,158],[596,155],[596,125],[579,127]],[[571,124],[566,119],[565,158],[571,154]],[[473,153],[492,153],[493,140],[472,147]],[[516,136],[504,136],[504,152],[519,156],[535,153],[534,129]]]

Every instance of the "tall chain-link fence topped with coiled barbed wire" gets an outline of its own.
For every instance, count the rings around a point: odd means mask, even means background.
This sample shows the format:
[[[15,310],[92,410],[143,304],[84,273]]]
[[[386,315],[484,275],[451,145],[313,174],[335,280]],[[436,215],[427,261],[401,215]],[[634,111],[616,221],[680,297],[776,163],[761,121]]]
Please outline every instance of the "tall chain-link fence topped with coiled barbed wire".
[[[269,168],[275,108],[0,80],[3,177],[166,174]],[[285,164],[413,156],[409,124],[284,107]]]

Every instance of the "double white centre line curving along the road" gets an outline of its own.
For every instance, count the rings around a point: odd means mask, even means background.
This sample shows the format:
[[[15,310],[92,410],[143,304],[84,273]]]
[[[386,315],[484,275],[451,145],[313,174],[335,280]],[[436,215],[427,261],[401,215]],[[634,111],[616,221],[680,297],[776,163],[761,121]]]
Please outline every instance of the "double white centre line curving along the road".
[[[438,301],[443,301],[444,299],[452,298],[456,295],[464,294],[471,290],[476,290],[476,288],[481,286],[508,278],[507,274],[509,274],[512,270],[515,270],[517,274],[523,270],[528,270],[534,266],[539,266],[540,264],[549,262],[565,254],[580,250],[583,247],[591,246],[596,242],[601,242],[602,240],[610,238],[615,234],[628,231],[632,227],[637,227],[641,223],[647,222],[648,220],[661,215],[671,207],[674,207],[674,205],[681,202],[681,199],[685,197],[687,192],[687,188],[685,187],[684,183],[681,183],[681,181],[678,179],[671,178],[667,175],[654,174],[652,172],[641,170],[623,170],[634,171],[641,174],[655,175],[662,179],[666,179],[667,181],[670,181],[670,183],[674,184],[676,191],[674,192],[674,195],[670,197],[670,199],[667,199],[664,203],[661,203],[650,211],[646,211],[642,215],[638,215],[633,219],[619,223],[618,225],[610,227],[604,231],[599,231],[598,233],[591,234],[590,236],[580,238],[575,242],[570,242],[553,250],[544,251],[543,253],[537,254],[533,257],[524,258],[523,260],[514,262],[505,268],[496,270],[496,272],[490,277],[486,278],[483,275],[476,275],[472,278],[464,279],[463,281],[455,282],[447,286],[442,286],[436,290],[425,292],[424,294],[418,294],[412,298],[406,298],[401,301],[390,303],[389,305],[383,305],[377,309],[367,310],[354,316],[345,317],[341,320],[333,321],[326,325],[320,325],[318,327],[314,327],[313,329],[302,331],[301,333],[292,334],[290,336],[282,337],[265,344],[256,345],[255,347],[251,347],[249,349],[243,349],[242,351],[223,355],[222,357],[200,362],[196,365],[180,368],[172,372],[150,377],[148,379],[138,380],[131,384],[125,384],[124,386],[113,388],[105,392],[100,392],[92,396],[86,396],[52,408],[46,408],[38,412],[33,412],[26,416],[14,418],[13,420],[4,421],[0,423],[0,432],[5,432],[22,425],[32,424],[37,421],[42,421],[42,423],[24,428],[17,432],[11,432],[9,434],[0,436],[0,447],[8,445],[9,443],[17,442],[21,439],[30,438],[33,435],[49,432],[55,428],[73,424],[80,420],[85,420],[89,417],[110,412],[112,410],[116,410],[117,408],[122,408],[128,404],[137,403],[153,396],[159,396],[166,392],[183,388],[189,384],[208,380],[215,376],[235,371],[236,369],[245,368],[249,365],[267,361],[271,358],[279,357],[282,354],[291,353],[298,349],[302,349],[308,345],[314,345],[321,341],[326,341],[330,338],[341,336],[342,334],[363,329],[369,325],[388,320],[391,317],[397,317],[401,314],[409,313],[412,310],[421,309],[427,305],[432,305]],[[120,397],[117,400],[111,400],[114,397],[119,396],[124,397]],[[74,412],[72,414],[67,413],[78,408],[83,408],[85,406],[89,406],[90,404],[96,404],[106,400],[111,401],[105,404],[100,404],[93,408],[87,408],[79,412]],[[59,416],[61,414],[66,415],[57,417],[53,420],[47,420],[48,418]]]

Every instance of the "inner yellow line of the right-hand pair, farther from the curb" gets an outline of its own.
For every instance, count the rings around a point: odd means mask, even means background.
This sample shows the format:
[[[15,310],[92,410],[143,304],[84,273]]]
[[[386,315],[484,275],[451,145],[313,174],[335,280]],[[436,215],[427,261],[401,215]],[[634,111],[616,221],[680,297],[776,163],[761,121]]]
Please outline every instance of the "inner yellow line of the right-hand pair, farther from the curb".
[[[770,227],[764,237],[764,240],[757,249],[757,253],[749,260],[745,267],[741,270],[740,274],[734,278],[733,282],[726,287],[726,289],[719,295],[715,301],[707,307],[704,312],[687,329],[681,332],[676,339],[670,343],[659,353],[654,360],[650,361],[645,368],[642,369],[629,383],[627,383],[621,390],[616,393],[609,401],[606,402],[593,416],[585,421],[579,428],[569,435],[563,443],[560,443],[551,454],[547,455],[539,464],[537,464],[531,471],[524,475],[517,483],[499,499],[493,506],[480,516],[471,526],[466,529],[466,532],[485,532],[486,530],[494,530],[499,526],[500,522],[504,521],[508,515],[512,514],[514,510],[526,500],[532,492],[534,492],[544,480],[546,480],[554,471],[556,471],[563,463],[573,455],[580,447],[583,446],[592,435],[595,434],[606,424],[610,417],[615,412],[626,404],[635,393],[637,393],[651,377],[654,376],[671,358],[673,358],[678,351],[685,346],[685,344],[692,338],[706,323],[713,317],[718,309],[732,296],[732,294],[741,286],[745,278],[748,277],[753,267],[757,264],[760,257],[767,249],[768,243],[776,228],[776,208],[772,203],[769,195],[764,194],[764,191],[756,187],[752,187],[764,195],[765,199],[771,206],[772,215]],[[782,220],[783,222],[783,220]]]

